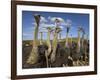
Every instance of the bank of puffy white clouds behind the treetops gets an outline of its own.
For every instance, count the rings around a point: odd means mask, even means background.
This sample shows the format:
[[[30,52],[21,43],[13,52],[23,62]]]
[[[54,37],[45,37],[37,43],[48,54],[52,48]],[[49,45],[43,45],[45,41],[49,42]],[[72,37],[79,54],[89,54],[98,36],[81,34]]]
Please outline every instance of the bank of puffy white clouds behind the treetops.
[[[66,21],[64,21],[63,18],[61,17],[51,17],[49,16],[48,19],[46,19],[45,17],[41,16],[41,20],[40,20],[40,26],[39,26],[39,32],[47,32],[47,27],[52,27],[53,29],[56,27],[54,23],[48,23],[48,21],[50,20],[51,22],[54,22],[55,19],[59,19],[61,21],[61,24],[59,25],[59,27],[61,28],[61,30],[64,30],[64,27],[67,25],[72,24],[72,21],[70,19],[67,19]],[[46,23],[47,22],[47,23]],[[36,23],[32,23],[34,26],[36,25]],[[34,31],[34,28],[32,29],[32,31]]]

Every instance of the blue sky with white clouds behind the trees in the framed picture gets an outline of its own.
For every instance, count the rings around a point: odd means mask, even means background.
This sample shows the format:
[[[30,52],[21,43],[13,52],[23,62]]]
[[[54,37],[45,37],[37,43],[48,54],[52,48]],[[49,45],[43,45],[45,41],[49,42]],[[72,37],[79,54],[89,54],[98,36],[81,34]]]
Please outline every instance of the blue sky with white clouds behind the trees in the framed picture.
[[[61,35],[62,38],[66,37],[66,25],[67,21],[71,22],[69,37],[72,34],[72,37],[78,36],[78,26],[84,28],[85,33],[89,37],[89,14],[80,14],[80,13],[58,13],[58,12],[37,12],[37,11],[22,11],[22,36],[23,40],[33,40],[34,27],[35,27],[35,14],[41,15],[40,29],[39,31],[46,32],[42,27],[52,26],[55,27],[54,19],[58,18],[61,23],[59,26],[62,29]],[[39,34],[38,34],[39,35]],[[47,33],[43,33],[43,39],[46,39]],[[38,36],[40,39],[40,35]],[[51,35],[52,38],[52,35]]]

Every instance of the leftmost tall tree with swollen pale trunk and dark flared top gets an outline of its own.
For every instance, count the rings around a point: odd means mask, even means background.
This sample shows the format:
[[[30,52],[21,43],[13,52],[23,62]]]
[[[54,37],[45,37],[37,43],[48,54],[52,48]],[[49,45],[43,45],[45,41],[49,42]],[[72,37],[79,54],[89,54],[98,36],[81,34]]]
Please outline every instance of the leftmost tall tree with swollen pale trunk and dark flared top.
[[[33,48],[27,59],[28,64],[35,64],[38,61],[38,29],[40,23],[40,15],[34,15],[34,19],[36,22],[35,30],[34,30],[34,40],[33,40]]]

